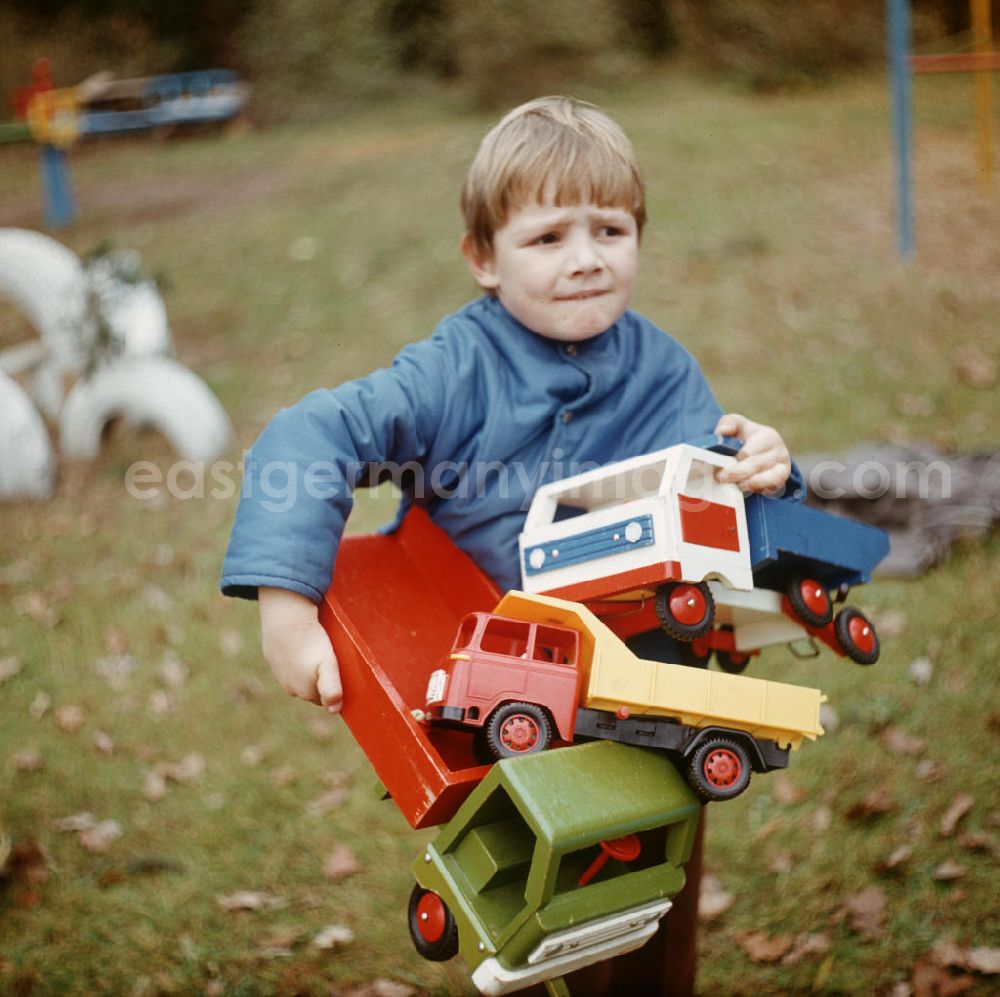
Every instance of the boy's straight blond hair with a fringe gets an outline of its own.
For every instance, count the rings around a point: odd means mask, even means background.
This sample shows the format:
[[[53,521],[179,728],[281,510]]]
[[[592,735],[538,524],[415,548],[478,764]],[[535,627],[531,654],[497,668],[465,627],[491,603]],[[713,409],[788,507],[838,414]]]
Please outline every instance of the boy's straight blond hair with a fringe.
[[[623,208],[640,235],[646,221],[632,143],[606,114],[573,97],[539,97],[515,107],[483,139],[462,187],[470,248],[489,256],[494,233],[513,209],[549,199]]]

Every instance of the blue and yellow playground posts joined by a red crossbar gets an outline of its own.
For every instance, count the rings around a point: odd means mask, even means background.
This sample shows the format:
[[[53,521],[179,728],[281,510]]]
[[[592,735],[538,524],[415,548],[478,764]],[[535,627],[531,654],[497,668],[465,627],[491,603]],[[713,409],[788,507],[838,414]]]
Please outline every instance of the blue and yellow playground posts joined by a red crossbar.
[[[897,231],[900,254],[916,254],[913,233],[913,87],[912,73],[975,74],[976,144],[979,175],[993,189],[993,84],[990,73],[1000,69],[1000,52],[993,49],[990,0],[969,0],[973,52],[944,55],[910,54],[910,0],[886,0],[892,129],[896,159]]]

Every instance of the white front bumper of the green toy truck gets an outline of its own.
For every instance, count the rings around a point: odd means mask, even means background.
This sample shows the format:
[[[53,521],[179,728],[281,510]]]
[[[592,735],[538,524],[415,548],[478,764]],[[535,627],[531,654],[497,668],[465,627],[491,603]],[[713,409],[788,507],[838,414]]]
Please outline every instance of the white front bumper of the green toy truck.
[[[669,900],[656,900],[549,935],[528,956],[527,965],[517,969],[507,969],[490,957],[476,967],[472,982],[481,993],[506,994],[631,952],[652,937],[671,906]]]

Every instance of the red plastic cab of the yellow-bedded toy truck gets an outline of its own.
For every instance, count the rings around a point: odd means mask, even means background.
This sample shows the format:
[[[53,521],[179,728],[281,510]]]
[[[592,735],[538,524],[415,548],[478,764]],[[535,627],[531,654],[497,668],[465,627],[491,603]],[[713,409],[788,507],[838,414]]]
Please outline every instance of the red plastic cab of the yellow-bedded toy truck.
[[[579,660],[575,630],[469,613],[448,661],[427,683],[427,712],[437,721],[480,728],[504,755],[542,751],[556,733],[572,741]]]

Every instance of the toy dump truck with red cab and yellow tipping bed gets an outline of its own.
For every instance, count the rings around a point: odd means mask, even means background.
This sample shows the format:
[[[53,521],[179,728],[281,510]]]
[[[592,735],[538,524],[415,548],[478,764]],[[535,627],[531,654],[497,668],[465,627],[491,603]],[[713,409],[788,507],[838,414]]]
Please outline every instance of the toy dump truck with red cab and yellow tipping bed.
[[[751,771],[788,764],[823,733],[816,689],[637,658],[585,607],[509,592],[462,621],[427,684],[432,722],[473,728],[495,758],[558,737],[665,749],[705,801],[742,793]]]

